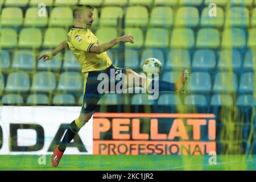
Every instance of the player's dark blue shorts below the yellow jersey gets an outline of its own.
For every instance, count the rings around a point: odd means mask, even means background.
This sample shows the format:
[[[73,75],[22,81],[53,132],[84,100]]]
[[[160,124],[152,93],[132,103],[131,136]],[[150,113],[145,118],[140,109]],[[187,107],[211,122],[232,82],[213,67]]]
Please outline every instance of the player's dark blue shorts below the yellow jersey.
[[[108,89],[110,92],[110,89],[114,89],[113,86],[115,86],[120,80],[110,79],[110,75],[113,77],[119,75],[121,77],[122,73],[126,74],[126,70],[129,68],[117,68],[113,64],[103,70],[103,71],[92,71],[92,72],[86,72],[84,75],[84,99],[82,102],[82,110],[81,113],[88,114],[93,113],[98,101],[101,99],[102,96],[104,96],[104,93],[98,92],[98,85],[102,84],[102,80],[98,80],[98,76],[101,73],[105,73],[102,75],[108,75]],[[101,75],[100,75],[101,76]],[[122,80],[122,79],[121,79]]]

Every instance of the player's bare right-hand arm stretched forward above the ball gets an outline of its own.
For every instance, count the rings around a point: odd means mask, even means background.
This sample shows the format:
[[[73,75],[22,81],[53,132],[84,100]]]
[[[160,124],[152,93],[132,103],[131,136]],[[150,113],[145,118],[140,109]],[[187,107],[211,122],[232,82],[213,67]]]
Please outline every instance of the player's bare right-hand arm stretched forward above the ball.
[[[119,38],[113,39],[110,42],[107,42],[107,43],[104,43],[104,44],[100,44],[100,45],[93,44],[89,48],[88,51],[92,52],[92,53],[96,53],[98,55],[102,52],[108,51],[110,48],[114,47],[116,44],[118,44],[120,42],[123,42],[123,43],[129,42],[131,44],[134,44],[133,36],[127,34],[127,35],[123,35]]]

